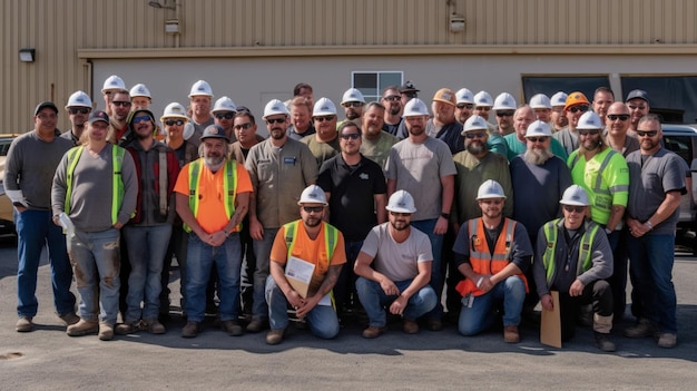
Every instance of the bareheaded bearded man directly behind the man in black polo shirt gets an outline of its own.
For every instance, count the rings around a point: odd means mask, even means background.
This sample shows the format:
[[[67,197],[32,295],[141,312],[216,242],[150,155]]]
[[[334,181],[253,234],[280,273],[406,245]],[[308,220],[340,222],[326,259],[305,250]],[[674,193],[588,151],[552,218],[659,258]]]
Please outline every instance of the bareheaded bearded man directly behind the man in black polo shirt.
[[[377,163],[384,169],[385,162],[390,155],[390,149],[400,139],[383,131],[385,107],[377,101],[371,101],[365,107],[361,128],[363,140],[361,141],[361,154],[366,158]]]

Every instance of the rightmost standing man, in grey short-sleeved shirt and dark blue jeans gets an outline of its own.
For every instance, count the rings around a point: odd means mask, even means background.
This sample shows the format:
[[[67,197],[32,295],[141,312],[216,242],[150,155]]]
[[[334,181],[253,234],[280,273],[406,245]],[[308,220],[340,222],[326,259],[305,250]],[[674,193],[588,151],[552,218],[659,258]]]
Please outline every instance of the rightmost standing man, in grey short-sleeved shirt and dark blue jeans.
[[[632,304],[638,322],[625,330],[625,336],[654,338],[658,333],[658,346],[674,348],[678,325],[671,280],[678,208],[680,196],[687,192],[685,163],[661,146],[662,130],[656,115],[639,119],[637,135],[641,149],[627,156],[630,188],[626,221],[629,273],[639,305]]]

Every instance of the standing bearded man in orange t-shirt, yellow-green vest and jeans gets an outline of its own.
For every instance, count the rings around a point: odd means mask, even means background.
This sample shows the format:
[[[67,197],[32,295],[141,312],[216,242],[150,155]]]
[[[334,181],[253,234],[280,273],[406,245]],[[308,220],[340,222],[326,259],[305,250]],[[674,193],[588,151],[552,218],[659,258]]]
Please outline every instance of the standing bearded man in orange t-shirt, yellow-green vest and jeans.
[[[285,129],[284,129],[285,130]],[[212,125],[200,139],[204,156],[181,168],[175,186],[176,207],[189,232],[186,281],[186,325],[183,338],[200,331],[210,270],[218,271],[218,306],[223,330],[242,335],[239,306],[239,224],[247,214],[252,183],[244,166],[225,158],[228,138]]]

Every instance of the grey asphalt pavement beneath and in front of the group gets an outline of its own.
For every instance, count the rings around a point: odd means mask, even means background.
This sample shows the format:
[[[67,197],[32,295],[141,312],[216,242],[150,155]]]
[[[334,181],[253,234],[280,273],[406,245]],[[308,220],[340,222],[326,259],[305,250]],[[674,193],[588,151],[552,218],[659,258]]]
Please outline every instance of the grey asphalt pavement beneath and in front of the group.
[[[16,273],[16,247],[0,244],[0,390],[691,390],[697,381],[697,258],[689,254],[674,268],[678,345],[660,349],[618,329],[610,354],[595,348],[588,328],[556,349],[539,343],[533,325],[521,328],[518,344],[504,343],[500,330],[464,338],[446,324],[406,335],[394,323],[375,340],[361,338],[359,324],[331,341],[291,328],[269,346],[265,333],[234,338],[212,325],[183,339],[177,316],[164,335],[70,338],[53,314],[46,262],[37,330],[18,333]],[[170,289],[178,292],[176,274]]]

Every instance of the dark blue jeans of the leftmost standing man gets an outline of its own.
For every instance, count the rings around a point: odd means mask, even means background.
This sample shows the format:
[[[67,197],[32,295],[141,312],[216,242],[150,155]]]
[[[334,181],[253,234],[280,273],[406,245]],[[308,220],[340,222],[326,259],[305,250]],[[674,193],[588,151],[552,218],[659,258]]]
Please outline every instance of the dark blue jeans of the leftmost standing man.
[[[14,209],[17,226],[17,314],[33,317],[37,315],[37,273],[41,250],[48,246],[51,264],[53,306],[59,315],[75,312],[75,295],[70,292],[72,270],[66,248],[62,228],[53,224],[49,211]]]

